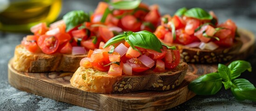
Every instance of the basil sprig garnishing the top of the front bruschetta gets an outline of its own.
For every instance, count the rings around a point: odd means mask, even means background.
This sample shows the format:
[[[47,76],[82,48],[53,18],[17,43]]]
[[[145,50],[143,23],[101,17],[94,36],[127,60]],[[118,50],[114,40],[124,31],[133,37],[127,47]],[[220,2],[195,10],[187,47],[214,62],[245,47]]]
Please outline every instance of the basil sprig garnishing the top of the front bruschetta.
[[[162,52],[160,49],[162,49],[163,43],[161,43],[159,39],[149,31],[138,31],[138,32],[126,31],[122,35],[112,37],[104,45],[104,48],[107,46],[110,46],[111,44],[118,43],[124,40],[130,44],[132,49],[135,49],[137,51],[139,50],[135,46]],[[167,47],[167,48],[174,49],[173,47]]]

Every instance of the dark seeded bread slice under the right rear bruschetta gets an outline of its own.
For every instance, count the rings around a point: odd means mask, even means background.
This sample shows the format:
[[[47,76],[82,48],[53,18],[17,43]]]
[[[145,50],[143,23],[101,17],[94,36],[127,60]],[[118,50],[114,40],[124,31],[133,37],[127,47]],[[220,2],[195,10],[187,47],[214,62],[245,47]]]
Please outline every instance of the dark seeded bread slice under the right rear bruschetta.
[[[177,46],[180,50],[180,59],[188,63],[223,63],[239,56],[239,50],[242,47],[242,41],[235,39],[231,47],[219,47],[215,50],[190,48],[181,44],[170,44]]]

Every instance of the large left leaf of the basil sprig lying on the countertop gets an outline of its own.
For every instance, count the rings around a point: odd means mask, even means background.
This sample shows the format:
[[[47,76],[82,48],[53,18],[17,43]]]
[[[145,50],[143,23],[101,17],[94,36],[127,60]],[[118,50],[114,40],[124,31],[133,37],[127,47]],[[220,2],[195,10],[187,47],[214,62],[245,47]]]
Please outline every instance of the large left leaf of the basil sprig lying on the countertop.
[[[188,85],[188,89],[198,95],[214,95],[221,87],[221,77],[218,73],[201,75]]]

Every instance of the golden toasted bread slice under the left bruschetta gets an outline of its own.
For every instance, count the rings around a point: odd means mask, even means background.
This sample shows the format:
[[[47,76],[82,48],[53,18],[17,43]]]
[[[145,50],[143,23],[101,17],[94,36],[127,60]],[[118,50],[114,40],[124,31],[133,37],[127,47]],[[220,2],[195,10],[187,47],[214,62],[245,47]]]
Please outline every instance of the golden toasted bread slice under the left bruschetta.
[[[24,46],[17,45],[14,51],[13,68],[21,72],[75,72],[81,59],[87,55],[55,53],[31,53]]]

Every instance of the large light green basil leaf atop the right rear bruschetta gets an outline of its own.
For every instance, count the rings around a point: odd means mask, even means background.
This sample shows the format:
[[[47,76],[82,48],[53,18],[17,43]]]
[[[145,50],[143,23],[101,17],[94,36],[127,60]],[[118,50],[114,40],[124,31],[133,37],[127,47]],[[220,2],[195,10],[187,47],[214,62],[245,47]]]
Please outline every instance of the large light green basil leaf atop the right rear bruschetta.
[[[211,20],[213,16],[211,16],[208,12],[201,8],[191,8],[184,13],[185,16],[196,18],[200,20]]]

